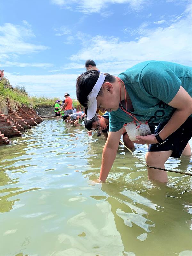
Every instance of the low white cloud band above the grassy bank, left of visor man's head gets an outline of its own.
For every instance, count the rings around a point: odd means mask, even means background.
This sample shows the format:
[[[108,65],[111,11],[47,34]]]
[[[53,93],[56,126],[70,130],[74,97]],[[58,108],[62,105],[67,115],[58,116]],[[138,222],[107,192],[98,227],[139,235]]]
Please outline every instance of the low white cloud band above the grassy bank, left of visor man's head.
[[[30,95],[47,97],[64,97],[69,92],[76,98],[76,79],[78,74],[50,74],[50,75],[13,75],[4,73],[10,84],[24,86]]]

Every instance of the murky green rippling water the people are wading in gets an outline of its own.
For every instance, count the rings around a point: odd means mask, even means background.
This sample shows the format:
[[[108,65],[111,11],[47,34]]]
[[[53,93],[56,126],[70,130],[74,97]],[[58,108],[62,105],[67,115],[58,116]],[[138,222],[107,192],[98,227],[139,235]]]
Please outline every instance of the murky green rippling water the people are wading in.
[[[152,183],[120,146],[108,183],[95,184],[104,142],[52,119],[0,147],[1,256],[191,255],[190,176]],[[191,167],[189,157],[167,163]]]

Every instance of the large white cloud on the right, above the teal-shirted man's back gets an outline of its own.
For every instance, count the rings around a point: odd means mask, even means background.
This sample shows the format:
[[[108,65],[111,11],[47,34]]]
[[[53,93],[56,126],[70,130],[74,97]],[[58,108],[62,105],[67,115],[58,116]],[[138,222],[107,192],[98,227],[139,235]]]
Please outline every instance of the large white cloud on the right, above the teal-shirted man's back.
[[[142,26],[139,34],[135,41],[121,41],[119,38],[107,36],[92,37],[84,44],[84,48],[70,59],[72,62],[79,60],[78,62],[81,63],[93,59],[100,70],[116,74],[146,60],[164,60],[191,65],[190,12],[186,12],[180,20],[164,28],[147,29]],[[108,66],[99,66],[99,63],[103,62],[108,63]]]

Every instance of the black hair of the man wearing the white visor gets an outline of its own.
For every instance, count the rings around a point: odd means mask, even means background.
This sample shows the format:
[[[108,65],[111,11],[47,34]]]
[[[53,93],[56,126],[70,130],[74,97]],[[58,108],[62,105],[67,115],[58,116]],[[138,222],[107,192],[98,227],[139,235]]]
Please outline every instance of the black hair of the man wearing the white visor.
[[[99,71],[98,70],[87,70],[86,72],[82,73],[80,76],[78,76],[76,81],[76,95],[77,100],[81,105],[87,108],[87,96],[92,91],[93,87],[95,86],[98,78],[99,78]],[[115,77],[113,75],[109,75],[108,73],[105,73],[105,82],[115,82]],[[102,87],[98,93],[98,96],[102,96]]]

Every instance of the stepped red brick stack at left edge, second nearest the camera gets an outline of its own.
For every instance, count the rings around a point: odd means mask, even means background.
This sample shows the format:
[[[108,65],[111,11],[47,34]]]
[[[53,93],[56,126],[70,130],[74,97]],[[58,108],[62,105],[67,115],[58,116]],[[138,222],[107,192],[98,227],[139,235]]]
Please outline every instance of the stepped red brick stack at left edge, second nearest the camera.
[[[18,131],[16,126],[0,112],[0,132],[7,137],[21,136],[22,133]]]

